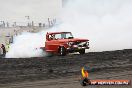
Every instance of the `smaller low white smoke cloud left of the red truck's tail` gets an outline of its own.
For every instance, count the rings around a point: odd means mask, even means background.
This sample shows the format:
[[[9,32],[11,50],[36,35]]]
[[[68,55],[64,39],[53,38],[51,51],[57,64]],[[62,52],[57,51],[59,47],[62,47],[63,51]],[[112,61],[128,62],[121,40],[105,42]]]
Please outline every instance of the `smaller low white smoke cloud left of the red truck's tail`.
[[[7,58],[40,57],[45,53],[40,49],[43,45],[43,36],[40,33],[23,33],[14,38],[10,45]]]

